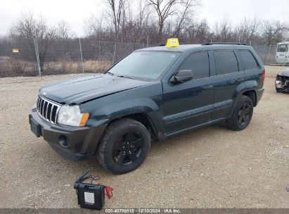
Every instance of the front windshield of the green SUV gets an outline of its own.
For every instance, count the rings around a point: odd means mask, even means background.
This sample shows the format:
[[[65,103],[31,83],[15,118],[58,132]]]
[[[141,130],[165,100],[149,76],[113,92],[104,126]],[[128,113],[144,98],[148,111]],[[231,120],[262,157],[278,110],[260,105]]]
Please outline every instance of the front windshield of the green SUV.
[[[165,51],[134,52],[117,63],[108,73],[156,80],[176,60],[179,54]]]

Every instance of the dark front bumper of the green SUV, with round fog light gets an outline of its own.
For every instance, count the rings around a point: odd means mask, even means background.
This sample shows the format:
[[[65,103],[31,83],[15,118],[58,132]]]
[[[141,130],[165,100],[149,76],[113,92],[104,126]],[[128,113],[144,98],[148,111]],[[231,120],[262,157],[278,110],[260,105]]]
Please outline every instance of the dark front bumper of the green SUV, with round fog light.
[[[36,108],[32,108],[29,115],[32,132],[37,137],[42,136],[45,141],[61,156],[68,160],[86,160],[94,156],[98,142],[106,125],[97,127],[71,127],[67,125],[51,124],[40,118]],[[66,144],[60,144],[60,141]]]

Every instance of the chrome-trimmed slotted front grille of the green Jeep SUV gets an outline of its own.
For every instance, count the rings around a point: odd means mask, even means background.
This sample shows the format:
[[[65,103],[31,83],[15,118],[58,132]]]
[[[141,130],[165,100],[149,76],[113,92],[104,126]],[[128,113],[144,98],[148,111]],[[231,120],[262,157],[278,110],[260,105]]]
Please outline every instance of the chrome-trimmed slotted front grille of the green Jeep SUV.
[[[37,99],[37,112],[44,120],[56,123],[60,104],[50,101],[42,96]]]

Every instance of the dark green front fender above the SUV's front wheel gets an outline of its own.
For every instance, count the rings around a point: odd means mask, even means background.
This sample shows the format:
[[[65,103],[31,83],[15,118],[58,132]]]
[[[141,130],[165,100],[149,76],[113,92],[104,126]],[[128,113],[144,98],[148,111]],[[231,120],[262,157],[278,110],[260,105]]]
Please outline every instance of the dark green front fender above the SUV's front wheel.
[[[143,113],[152,122],[156,133],[163,132],[162,85],[140,87],[84,103],[82,112],[91,115],[87,126],[98,126],[135,113]]]

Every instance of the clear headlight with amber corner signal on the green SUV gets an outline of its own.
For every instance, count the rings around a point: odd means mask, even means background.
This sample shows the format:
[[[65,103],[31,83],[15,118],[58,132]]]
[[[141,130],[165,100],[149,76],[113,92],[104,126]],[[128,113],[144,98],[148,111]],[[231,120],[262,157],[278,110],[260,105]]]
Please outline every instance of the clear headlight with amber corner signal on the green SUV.
[[[57,122],[63,125],[84,126],[89,113],[80,113],[79,106],[63,105],[58,112]]]

